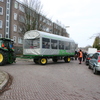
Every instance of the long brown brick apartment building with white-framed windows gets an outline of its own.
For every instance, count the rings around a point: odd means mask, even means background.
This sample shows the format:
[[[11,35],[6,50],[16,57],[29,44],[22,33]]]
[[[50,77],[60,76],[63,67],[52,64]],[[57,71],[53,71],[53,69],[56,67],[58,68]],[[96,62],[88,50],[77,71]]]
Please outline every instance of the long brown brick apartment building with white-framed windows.
[[[24,5],[17,0],[0,0],[0,37],[14,40],[17,53],[22,52],[23,35],[19,23],[24,22]],[[38,30],[69,37],[66,29],[50,19],[38,15]]]

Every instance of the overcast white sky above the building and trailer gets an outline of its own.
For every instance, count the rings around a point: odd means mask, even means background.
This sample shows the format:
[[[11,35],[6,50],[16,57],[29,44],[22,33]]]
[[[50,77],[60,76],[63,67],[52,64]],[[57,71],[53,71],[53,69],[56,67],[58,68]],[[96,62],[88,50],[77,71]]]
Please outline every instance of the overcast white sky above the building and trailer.
[[[53,22],[70,26],[67,32],[79,47],[92,45],[100,33],[100,0],[41,0],[44,12]]]

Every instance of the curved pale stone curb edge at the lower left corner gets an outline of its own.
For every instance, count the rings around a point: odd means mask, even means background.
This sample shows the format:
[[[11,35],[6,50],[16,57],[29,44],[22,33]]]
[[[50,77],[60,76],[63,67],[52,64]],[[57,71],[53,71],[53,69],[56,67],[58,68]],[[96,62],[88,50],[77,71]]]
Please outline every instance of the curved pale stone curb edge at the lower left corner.
[[[0,73],[2,74],[2,77],[3,77],[2,82],[0,84],[0,90],[2,90],[8,83],[9,75],[8,75],[8,73],[6,73],[4,71],[0,71]]]

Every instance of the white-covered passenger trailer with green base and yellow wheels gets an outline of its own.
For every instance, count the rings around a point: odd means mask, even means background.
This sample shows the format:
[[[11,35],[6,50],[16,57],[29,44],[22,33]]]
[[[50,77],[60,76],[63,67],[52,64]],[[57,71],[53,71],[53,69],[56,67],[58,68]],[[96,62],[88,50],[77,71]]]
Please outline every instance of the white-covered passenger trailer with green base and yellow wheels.
[[[38,30],[30,30],[24,35],[23,56],[33,58],[36,64],[45,65],[48,59],[70,62],[74,53],[75,42],[68,37]]]

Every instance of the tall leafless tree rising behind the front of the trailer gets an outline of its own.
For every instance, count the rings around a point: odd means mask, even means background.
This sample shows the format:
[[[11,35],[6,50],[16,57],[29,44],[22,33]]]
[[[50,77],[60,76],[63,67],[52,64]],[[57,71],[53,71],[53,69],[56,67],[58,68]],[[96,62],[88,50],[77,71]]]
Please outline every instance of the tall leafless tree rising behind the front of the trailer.
[[[19,13],[24,18],[19,23],[22,35],[29,30],[39,30],[39,17],[40,15],[45,16],[43,15],[43,6],[39,0],[23,0],[23,5],[24,13]]]

